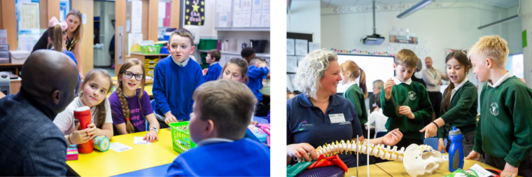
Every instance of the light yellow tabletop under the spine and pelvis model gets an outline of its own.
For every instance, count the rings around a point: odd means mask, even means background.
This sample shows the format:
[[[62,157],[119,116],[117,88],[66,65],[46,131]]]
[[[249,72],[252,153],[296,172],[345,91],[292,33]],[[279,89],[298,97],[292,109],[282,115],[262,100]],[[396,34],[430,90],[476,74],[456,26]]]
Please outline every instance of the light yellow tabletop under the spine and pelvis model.
[[[482,162],[477,162],[475,160],[463,160],[463,169],[469,169],[475,164],[479,164],[480,167],[484,169],[496,169],[491,167],[488,164]],[[383,162],[375,164],[377,167],[380,167],[382,170],[386,171],[390,176],[405,176],[409,177],[405,166],[402,164],[402,161],[392,161],[392,162]],[[498,169],[500,170],[500,169]],[[358,172],[360,173],[360,167],[358,167]],[[437,169],[434,174],[430,176],[446,176],[451,174],[449,171],[449,161],[444,161],[443,166],[440,169]]]

